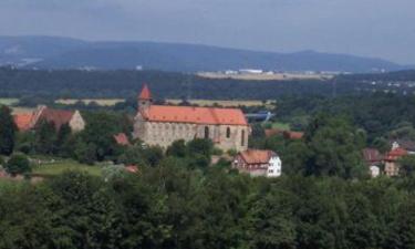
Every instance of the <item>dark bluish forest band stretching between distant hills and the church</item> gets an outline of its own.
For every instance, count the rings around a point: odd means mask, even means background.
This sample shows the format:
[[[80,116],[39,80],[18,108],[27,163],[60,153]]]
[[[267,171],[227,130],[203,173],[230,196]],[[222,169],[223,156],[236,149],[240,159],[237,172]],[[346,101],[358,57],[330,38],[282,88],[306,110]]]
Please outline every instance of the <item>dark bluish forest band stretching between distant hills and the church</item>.
[[[397,75],[409,75],[412,71]],[[376,74],[374,74],[376,75]],[[276,100],[284,95],[343,95],[373,91],[412,92],[412,86],[400,87],[386,83],[362,81],[374,75],[344,75],[328,81],[239,81],[209,80],[193,74],[160,71],[43,71],[0,69],[2,97],[134,97],[148,83],[157,98],[208,100]],[[380,74],[388,77],[390,74]],[[392,74],[394,75],[394,74]],[[397,77],[400,79],[400,77]],[[406,79],[406,77],[405,77]]]

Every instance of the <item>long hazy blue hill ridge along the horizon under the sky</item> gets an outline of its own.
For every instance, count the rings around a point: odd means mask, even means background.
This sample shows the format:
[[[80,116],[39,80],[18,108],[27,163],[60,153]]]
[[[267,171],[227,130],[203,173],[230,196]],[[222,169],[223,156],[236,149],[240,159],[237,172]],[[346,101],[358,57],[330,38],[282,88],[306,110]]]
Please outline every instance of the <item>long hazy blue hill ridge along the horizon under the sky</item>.
[[[376,72],[407,69],[382,59],[302,51],[256,52],[157,42],[86,42],[51,37],[0,37],[0,64],[39,69],[136,69],[175,72],[262,69]]]

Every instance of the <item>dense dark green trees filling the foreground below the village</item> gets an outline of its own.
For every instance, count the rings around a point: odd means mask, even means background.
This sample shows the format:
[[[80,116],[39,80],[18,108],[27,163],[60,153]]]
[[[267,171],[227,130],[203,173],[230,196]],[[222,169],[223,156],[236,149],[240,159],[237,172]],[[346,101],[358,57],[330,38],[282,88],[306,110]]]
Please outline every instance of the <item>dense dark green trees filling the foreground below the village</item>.
[[[250,178],[164,160],[0,191],[0,248],[411,249],[414,179]]]

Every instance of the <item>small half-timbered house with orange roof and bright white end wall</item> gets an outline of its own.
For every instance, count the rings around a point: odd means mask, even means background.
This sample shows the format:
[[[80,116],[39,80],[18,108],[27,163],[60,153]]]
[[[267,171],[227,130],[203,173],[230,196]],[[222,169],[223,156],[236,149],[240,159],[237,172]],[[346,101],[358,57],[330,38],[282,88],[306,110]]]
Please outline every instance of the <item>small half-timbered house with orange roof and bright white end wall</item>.
[[[282,163],[272,151],[247,149],[239,153],[232,167],[251,176],[279,177],[282,174]]]

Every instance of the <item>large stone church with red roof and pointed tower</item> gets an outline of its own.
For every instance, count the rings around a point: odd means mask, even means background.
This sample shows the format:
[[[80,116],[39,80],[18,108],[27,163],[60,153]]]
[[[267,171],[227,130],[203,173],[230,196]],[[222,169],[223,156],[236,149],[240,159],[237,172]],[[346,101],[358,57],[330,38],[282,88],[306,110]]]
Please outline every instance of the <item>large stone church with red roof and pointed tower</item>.
[[[178,139],[208,138],[222,151],[241,152],[248,148],[249,132],[239,108],[155,105],[148,86],[144,85],[133,137],[164,148]]]

